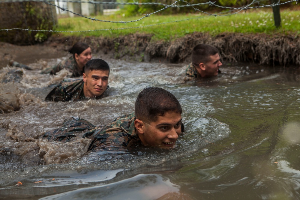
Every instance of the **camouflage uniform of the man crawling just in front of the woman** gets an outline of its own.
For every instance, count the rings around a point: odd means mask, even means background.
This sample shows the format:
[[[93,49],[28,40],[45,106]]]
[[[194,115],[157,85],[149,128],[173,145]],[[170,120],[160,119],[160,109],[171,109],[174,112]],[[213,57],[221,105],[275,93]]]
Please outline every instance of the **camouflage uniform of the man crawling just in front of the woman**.
[[[46,100],[49,101],[70,101],[70,100],[87,100],[88,97],[83,93],[83,79],[64,79],[59,85],[57,85],[47,96]],[[95,99],[101,99],[108,96],[106,91]]]

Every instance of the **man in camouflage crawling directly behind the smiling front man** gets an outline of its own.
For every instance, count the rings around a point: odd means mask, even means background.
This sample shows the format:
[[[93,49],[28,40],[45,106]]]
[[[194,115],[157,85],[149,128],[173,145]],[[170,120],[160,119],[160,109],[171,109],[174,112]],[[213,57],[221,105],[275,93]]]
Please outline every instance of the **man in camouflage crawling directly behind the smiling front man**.
[[[83,78],[64,79],[47,96],[49,101],[101,99],[108,94],[110,67],[102,59],[92,59],[85,64]]]

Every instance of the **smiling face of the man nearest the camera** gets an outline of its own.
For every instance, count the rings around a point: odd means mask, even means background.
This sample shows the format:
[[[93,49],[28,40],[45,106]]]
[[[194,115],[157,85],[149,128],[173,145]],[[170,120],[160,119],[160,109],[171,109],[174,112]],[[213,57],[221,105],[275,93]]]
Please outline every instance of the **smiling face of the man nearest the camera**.
[[[171,148],[175,145],[181,133],[181,114],[178,112],[166,112],[163,116],[149,124],[143,123],[142,143],[158,148]]]

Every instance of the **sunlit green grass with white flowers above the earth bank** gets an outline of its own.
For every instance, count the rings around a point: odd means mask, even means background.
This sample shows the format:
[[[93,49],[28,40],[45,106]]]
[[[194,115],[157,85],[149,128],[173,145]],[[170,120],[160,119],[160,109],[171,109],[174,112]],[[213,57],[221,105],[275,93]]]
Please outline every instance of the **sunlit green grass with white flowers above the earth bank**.
[[[61,32],[58,35],[70,36],[104,36],[118,37],[132,33],[153,34],[152,40],[174,40],[193,32],[209,33],[212,36],[223,32],[232,33],[265,33],[265,34],[300,34],[300,12],[298,10],[281,10],[281,27],[276,28],[274,25],[272,9],[259,9],[247,12],[241,11],[238,14],[230,16],[211,16],[207,14],[176,14],[176,15],[150,15],[140,21],[126,24],[99,22],[83,17],[61,18],[58,19],[57,31],[86,31],[95,29],[114,29],[128,28],[145,25],[145,28],[129,28],[122,30],[103,30],[89,31],[78,33]],[[96,19],[109,21],[131,21],[140,19],[137,17],[124,17],[120,15],[96,16]],[[178,22],[175,22],[178,21]]]

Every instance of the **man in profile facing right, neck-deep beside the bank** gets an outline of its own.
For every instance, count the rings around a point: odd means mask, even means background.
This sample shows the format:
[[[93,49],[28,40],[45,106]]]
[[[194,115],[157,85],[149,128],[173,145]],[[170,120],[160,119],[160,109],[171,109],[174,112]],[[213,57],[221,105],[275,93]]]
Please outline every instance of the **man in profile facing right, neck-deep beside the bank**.
[[[198,44],[193,48],[192,62],[183,76],[185,81],[217,76],[222,66],[217,48],[208,44]]]

